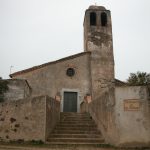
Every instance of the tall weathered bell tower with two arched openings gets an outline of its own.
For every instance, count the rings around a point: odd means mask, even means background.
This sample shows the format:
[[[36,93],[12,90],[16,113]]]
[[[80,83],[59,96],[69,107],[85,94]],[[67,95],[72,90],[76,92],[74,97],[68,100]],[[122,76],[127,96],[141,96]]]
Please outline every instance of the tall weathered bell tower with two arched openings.
[[[91,52],[92,98],[114,84],[111,13],[103,6],[90,6],[84,18],[84,51]]]

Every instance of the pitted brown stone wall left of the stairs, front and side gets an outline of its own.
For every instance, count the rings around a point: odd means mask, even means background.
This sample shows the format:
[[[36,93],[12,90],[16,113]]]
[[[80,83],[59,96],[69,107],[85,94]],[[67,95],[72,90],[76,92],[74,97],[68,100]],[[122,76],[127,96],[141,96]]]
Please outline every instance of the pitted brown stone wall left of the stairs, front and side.
[[[48,128],[52,128],[59,119],[59,102],[54,101],[47,96],[39,96],[1,103],[0,140],[45,141]]]

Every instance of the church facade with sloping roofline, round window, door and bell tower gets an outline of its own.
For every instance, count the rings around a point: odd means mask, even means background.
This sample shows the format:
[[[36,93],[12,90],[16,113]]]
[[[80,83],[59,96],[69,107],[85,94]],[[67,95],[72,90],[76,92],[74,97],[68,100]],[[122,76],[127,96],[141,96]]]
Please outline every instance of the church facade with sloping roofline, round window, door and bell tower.
[[[80,112],[91,100],[114,86],[114,57],[110,11],[91,6],[84,18],[84,52],[10,75],[25,79],[32,96],[48,95],[61,101],[61,111]]]

